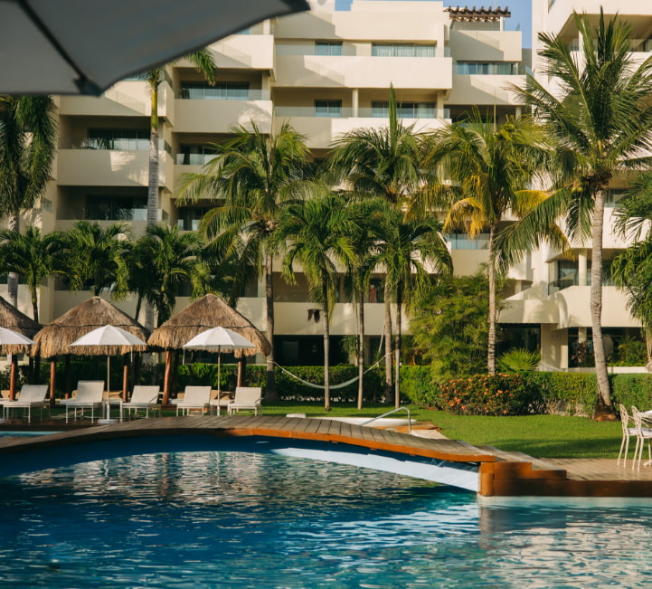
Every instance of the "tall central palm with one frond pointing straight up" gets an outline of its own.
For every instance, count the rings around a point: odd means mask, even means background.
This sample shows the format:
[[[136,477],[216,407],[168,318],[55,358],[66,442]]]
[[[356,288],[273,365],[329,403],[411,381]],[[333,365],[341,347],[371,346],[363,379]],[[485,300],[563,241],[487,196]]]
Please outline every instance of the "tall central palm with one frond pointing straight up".
[[[362,198],[383,198],[397,209],[410,203],[423,185],[420,145],[424,135],[414,125],[404,126],[397,116],[390,88],[389,125],[357,128],[335,140],[329,165]],[[392,394],[392,315],[385,292],[385,396]]]

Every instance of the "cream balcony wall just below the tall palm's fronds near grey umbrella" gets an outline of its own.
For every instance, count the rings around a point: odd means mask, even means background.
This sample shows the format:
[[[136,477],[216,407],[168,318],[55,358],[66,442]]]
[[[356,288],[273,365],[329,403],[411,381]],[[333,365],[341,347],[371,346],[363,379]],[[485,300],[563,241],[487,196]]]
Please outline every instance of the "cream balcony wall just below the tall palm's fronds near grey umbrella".
[[[175,127],[184,133],[231,133],[253,120],[263,133],[271,130],[269,90],[249,90],[240,100],[176,100]]]

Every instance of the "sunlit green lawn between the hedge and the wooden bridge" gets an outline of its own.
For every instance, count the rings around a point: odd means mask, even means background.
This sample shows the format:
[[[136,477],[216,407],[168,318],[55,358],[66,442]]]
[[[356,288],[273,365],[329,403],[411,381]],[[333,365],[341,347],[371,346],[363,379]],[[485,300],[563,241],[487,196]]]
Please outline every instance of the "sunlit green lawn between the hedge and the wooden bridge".
[[[374,404],[358,412],[353,404],[333,404],[326,413],[317,404],[265,404],[265,415],[306,413],[307,417],[373,417],[391,410]],[[619,422],[594,422],[586,417],[565,415],[527,415],[482,417],[453,415],[411,406],[413,419],[434,423],[453,440],[475,445],[495,446],[506,451],[522,451],[536,458],[617,458],[621,428]],[[396,416],[405,416],[405,412]]]

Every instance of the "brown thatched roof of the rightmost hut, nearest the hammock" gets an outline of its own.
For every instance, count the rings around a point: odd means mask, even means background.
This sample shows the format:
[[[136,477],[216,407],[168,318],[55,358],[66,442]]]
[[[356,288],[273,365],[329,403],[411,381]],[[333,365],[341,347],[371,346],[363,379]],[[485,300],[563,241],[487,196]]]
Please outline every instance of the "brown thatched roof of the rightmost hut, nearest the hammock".
[[[263,354],[267,356],[270,351],[269,341],[260,331],[222,299],[213,294],[204,295],[194,301],[175,317],[168,319],[152,332],[147,340],[151,347],[163,350],[178,350],[184,344],[210,328],[227,328],[246,337],[255,348],[237,350],[235,356],[253,356]]]

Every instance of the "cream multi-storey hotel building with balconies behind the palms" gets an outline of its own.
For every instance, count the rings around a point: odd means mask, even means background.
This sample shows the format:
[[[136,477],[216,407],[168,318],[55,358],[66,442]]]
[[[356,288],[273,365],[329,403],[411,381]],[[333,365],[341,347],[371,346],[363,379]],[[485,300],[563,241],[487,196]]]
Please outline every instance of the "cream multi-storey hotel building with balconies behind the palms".
[[[599,13],[600,4],[606,12],[613,5],[611,12],[618,8],[619,14],[627,15],[640,37],[636,51],[649,51],[652,5],[646,7],[641,0],[534,0],[534,28],[561,32],[568,35],[569,43],[577,43],[572,10]],[[647,16],[640,15],[646,12]],[[212,203],[177,205],[181,176],[200,171],[211,158],[206,146],[228,138],[237,124],[255,121],[262,131],[273,132],[288,121],[307,137],[314,156],[321,158],[346,131],[387,124],[391,84],[404,123],[415,123],[422,130],[457,120],[473,107],[496,115],[498,122],[520,114],[508,87],[522,84],[527,68],[536,72],[536,63],[531,52],[522,48],[522,33],[506,30],[509,17],[507,9],[447,8],[432,0],[354,0],[350,10],[335,10],[333,1],[317,0],[310,12],[265,21],[213,43],[209,49],[218,66],[213,87],[189,62],[168,67],[159,90],[161,222],[196,229]],[[535,33],[533,43],[537,43]],[[108,225],[127,214],[135,235],[142,234],[150,104],[146,82],[120,81],[99,98],[61,96],[56,103],[60,137],[52,182],[40,207],[24,215],[22,226],[37,223],[47,233],[68,229],[79,219]],[[609,192],[611,202],[618,199],[620,189],[615,181]],[[609,213],[607,217],[609,227]],[[569,366],[573,339],[586,337],[591,325],[590,249],[575,245],[572,260],[544,248],[515,266],[509,273],[510,296],[500,315],[508,347],[541,346],[543,363],[561,369]],[[457,274],[472,274],[487,261],[485,236],[469,240],[462,234],[450,235],[449,246]],[[606,232],[609,255],[624,246]],[[280,264],[276,272],[277,361],[319,364],[321,323],[308,313],[315,304],[305,280],[299,277],[298,286],[288,286],[280,277]],[[638,324],[628,315],[624,295],[610,286],[604,291],[605,327],[619,334],[636,330]],[[0,286],[0,294],[5,292],[6,287]],[[71,293],[49,280],[41,291],[43,323],[89,296],[89,292]],[[189,302],[180,297],[176,310]],[[133,313],[135,300],[118,306]],[[31,315],[24,287],[19,307]],[[252,283],[238,309],[264,330],[264,307],[263,285]],[[377,347],[383,332],[380,300],[367,303],[365,330],[370,347]],[[353,305],[337,303],[332,347],[338,349],[337,340],[354,333]]]

